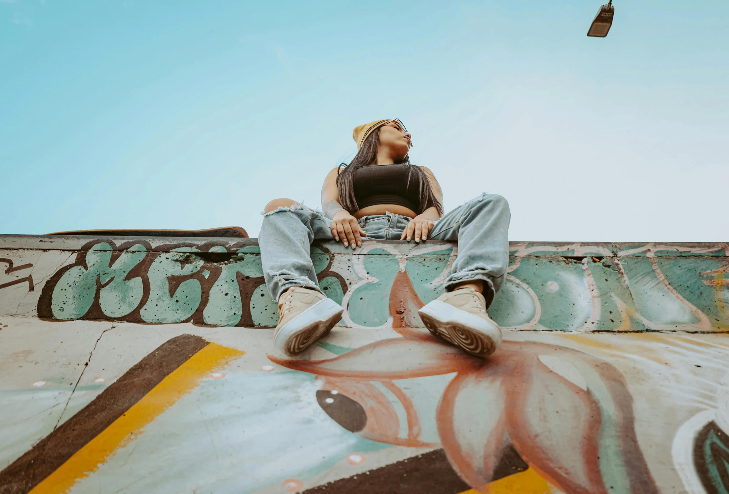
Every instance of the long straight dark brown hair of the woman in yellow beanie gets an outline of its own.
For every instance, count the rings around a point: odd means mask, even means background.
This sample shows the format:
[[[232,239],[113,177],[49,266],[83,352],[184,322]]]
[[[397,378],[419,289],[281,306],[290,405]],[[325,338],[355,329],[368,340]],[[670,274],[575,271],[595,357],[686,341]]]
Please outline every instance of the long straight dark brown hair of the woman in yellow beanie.
[[[362,147],[359,148],[359,152],[354,156],[354,159],[347,165],[346,163],[340,163],[339,171],[337,175],[337,188],[339,190],[339,204],[347,210],[350,215],[354,215],[359,211],[357,201],[354,198],[354,173],[357,169],[362,166],[370,166],[377,160],[377,147],[380,144],[380,128],[375,129],[372,134],[367,136],[367,139],[362,143]],[[443,205],[433,193],[433,189],[430,186],[428,177],[425,171],[420,166],[411,165],[410,157],[405,155],[402,161],[397,164],[408,165],[408,184],[410,184],[410,178],[413,174],[416,174],[420,180],[420,191],[419,191],[419,202],[420,211],[416,211],[416,214],[420,215],[429,207],[435,207],[438,214],[443,216]],[[344,169],[342,169],[344,167]]]

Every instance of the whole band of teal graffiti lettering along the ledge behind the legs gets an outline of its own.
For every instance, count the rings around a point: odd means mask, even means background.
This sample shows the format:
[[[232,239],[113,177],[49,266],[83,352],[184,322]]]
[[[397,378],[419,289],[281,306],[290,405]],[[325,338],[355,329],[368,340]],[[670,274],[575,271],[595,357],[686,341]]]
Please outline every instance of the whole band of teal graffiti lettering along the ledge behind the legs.
[[[528,330],[722,331],[729,328],[725,252],[723,244],[512,244],[507,281],[489,314],[504,328]],[[455,255],[443,243],[312,247],[324,293],[346,308],[341,324],[364,328],[393,323],[391,290],[405,279],[424,304],[437,298]],[[275,326],[276,310],[250,241],[90,242],[52,275],[37,307],[47,320],[244,327]],[[402,310],[409,325],[422,325]]]

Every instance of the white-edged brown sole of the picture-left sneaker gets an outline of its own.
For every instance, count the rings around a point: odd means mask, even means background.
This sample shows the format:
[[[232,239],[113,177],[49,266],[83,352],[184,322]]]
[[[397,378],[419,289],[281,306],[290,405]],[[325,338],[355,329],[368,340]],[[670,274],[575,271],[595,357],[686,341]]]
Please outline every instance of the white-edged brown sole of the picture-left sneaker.
[[[332,331],[343,312],[344,309],[331,298],[324,298],[286,323],[273,342],[289,357],[298,355]]]

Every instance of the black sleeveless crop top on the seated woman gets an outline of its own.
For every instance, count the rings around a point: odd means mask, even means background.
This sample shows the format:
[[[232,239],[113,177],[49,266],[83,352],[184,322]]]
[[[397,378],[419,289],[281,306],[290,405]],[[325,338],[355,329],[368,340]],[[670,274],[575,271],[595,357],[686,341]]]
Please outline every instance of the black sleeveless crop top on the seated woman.
[[[415,165],[369,165],[356,169],[352,179],[357,207],[397,204],[421,213],[421,175],[410,166]]]

